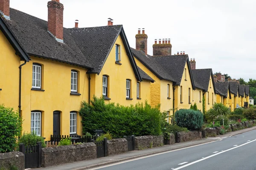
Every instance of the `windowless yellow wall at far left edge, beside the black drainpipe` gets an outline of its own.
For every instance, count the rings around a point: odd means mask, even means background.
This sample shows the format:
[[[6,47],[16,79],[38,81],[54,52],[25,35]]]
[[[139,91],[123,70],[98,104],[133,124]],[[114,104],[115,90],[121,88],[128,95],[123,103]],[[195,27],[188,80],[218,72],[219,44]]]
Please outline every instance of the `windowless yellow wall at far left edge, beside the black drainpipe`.
[[[19,66],[20,57],[0,31],[0,104],[12,107],[15,111],[19,105]]]

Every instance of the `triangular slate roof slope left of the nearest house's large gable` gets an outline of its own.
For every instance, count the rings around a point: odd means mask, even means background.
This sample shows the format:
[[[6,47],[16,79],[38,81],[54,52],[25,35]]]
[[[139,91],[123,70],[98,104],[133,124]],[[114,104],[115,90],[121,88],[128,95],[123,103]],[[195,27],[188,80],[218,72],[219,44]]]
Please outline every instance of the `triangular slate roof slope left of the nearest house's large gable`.
[[[84,57],[93,66],[93,72],[99,73],[121,28],[122,25],[69,28],[68,30]]]

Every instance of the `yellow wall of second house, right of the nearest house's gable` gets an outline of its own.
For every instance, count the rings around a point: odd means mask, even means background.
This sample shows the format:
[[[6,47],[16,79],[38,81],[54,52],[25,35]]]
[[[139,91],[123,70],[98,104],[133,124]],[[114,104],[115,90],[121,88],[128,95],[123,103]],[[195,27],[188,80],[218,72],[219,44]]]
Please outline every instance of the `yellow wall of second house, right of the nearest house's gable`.
[[[151,106],[155,107],[158,104],[161,104],[160,111],[167,111],[171,108],[173,108],[173,88],[172,88],[172,82],[166,81],[166,80],[160,80],[158,79],[151,71],[148,70],[148,68],[145,67],[138,59],[135,59],[136,64],[146,73],[148,74],[152,79],[155,80],[154,83],[151,83],[150,86],[150,94],[151,94]],[[167,99],[167,84],[170,84],[170,98]],[[172,111],[170,112],[172,114]]]

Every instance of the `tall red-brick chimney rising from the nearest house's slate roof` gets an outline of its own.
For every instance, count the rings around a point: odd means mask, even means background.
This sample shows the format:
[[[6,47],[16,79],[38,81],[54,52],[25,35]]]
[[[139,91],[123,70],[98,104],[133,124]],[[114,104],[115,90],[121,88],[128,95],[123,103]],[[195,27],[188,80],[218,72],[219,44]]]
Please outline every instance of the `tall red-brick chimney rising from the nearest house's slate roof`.
[[[48,31],[57,41],[63,42],[63,11],[64,6],[60,0],[48,2]]]

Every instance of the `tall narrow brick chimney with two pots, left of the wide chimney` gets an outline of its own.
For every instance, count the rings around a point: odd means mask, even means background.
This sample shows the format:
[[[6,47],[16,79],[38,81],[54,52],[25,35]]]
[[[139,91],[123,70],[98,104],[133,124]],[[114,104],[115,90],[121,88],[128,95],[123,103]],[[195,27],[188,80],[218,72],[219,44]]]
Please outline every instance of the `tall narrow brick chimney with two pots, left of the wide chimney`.
[[[136,38],[136,50],[143,51],[146,55],[148,54],[148,35],[145,34],[145,28],[142,28],[142,34],[140,34],[140,28]]]

